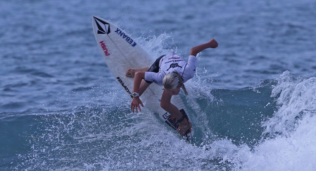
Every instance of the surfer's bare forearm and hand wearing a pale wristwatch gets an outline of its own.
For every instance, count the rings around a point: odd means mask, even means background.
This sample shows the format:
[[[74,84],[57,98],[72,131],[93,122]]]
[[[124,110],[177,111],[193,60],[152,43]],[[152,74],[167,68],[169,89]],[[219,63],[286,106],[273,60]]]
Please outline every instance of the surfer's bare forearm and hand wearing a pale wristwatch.
[[[145,72],[143,71],[135,72],[134,87],[133,87],[132,93],[135,93],[135,92],[140,93],[139,92],[140,83],[142,82],[144,78],[145,78]],[[143,102],[139,99],[139,96],[133,97],[132,102],[131,102],[131,110],[133,111],[133,113],[135,109],[136,109],[136,113],[138,113],[137,108],[139,109],[139,111],[142,111],[139,104],[144,107]]]

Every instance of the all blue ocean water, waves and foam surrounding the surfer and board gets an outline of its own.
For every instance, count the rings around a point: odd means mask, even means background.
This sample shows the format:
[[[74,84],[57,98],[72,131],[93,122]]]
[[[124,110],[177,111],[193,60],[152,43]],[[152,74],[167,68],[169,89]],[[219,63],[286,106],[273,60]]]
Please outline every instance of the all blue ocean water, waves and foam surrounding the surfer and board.
[[[316,2],[0,2],[0,170],[316,170]],[[130,98],[92,15],[152,55],[215,37],[181,92],[188,143]]]

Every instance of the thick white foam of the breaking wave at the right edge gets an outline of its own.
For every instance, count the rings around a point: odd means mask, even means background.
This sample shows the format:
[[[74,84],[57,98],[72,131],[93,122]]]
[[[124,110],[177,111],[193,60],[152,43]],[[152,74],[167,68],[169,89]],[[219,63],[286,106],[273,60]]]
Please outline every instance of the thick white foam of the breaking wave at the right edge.
[[[239,149],[233,170],[316,170],[316,78],[285,71],[272,91],[281,105],[263,122],[268,138],[254,150]]]

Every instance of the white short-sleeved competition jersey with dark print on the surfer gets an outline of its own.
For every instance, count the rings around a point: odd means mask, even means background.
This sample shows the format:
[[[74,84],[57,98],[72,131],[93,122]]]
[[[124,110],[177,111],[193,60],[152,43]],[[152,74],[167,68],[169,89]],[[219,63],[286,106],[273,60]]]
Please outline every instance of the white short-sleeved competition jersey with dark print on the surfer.
[[[152,81],[162,86],[162,79],[166,74],[178,72],[184,82],[193,78],[195,74],[197,57],[190,55],[188,61],[171,50],[171,54],[167,54],[159,61],[159,72],[145,72],[145,80]]]

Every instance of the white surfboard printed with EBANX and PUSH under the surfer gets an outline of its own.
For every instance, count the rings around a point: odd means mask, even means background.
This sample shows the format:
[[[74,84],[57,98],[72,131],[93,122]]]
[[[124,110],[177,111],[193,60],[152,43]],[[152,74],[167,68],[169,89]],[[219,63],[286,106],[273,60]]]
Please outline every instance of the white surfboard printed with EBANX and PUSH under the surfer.
[[[92,20],[94,36],[107,66],[113,76],[131,97],[134,78],[126,77],[126,71],[129,68],[150,67],[154,63],[154,60],[150,58],[149,54],[122,29],[111,22],[96,16],[93,16]],[[152,83],[140,98],[145,107],[157,111],[159,117],[171,128],[175,129],[175,120],[173,120],[173,117],[160,106],[162,92],[163,90],[161,86]],[[179,111],[186,115],[192,123],[189,112],[180,95],[173,95],[171,103],[177,106]],[[188,133],[187,137],[191,138],[193,134],[194,128],[192,126],[191,133]]]

